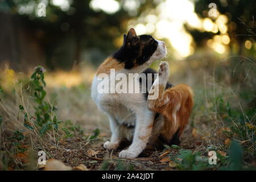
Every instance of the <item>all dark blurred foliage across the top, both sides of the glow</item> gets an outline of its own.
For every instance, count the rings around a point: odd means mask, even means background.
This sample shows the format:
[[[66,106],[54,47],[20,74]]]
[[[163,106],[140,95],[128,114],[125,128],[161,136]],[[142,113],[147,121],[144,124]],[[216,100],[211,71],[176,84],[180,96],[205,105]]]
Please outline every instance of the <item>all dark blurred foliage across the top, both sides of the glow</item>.
[[[35,40],[43,50],[46,66],[49,69],[69,69],[78,65],[82,60],[91,61],[98,65],[106,56],[114,52],[122,42],[122,34],[127,31],[129,20],[143,18],[148,14],[156,13],[158,5],[164,0],[138,1],[134,10],[125,8],[128,0],[116,0],[119,10],[109,14],[103,10],[95,10],[91,7],[92,0],[69,1],[67,10],[53,5],[50,0],[3,0],[0,2],[0,14],[9,14],[18,22],[16,27],[22,27],[27,34]],[[46,16],[36,15],[37,6],[40,2],[47,2]],[[228,18],[226,26],[230,43],[226,52],[238,53],[255,57],[255,2],[246,0],[198,0],[195,3],[195,13],[201,18],[210,18],[213,23],[217,19],[210,17],[209,4],[216,3],[220,14]],[[22,7],[31,6],[30,13],[22,13]],[[135,13],[134,13],[135,12]],[[159,17],[160,18],[160,17]],[[170,20],[171,21],[171,20]],[[185,29],[193,37],[192,46],[205,48],[205,41],[212,39],[221,32],[211,32],[189,27]],[[223,34],[224,35],[224,34]],[[18,35],[16,35],[16,38]],[[252,48],[244,50],[245,40],[250,40]],[[18,40],[16,40],[18,41]],[[171,50],[171,45],[168,49]],[[43,64],[43,63],[42,63]]]

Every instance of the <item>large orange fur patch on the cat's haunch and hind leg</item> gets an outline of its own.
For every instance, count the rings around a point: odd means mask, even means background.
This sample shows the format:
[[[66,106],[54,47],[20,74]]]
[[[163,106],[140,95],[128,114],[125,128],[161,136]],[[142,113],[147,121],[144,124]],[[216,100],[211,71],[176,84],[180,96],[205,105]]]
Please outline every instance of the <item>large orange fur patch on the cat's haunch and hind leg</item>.
[[[167,98],[169,101],[164,102]],[[178,129],[178,136],[183,132],[192,107],[193,92],[185,84],[167,90],[164,90],[163,85],[159,85],[159,97],[156,100],[148,100],[148,109],[164,116],[164,126],[160,133],[169,141]]]

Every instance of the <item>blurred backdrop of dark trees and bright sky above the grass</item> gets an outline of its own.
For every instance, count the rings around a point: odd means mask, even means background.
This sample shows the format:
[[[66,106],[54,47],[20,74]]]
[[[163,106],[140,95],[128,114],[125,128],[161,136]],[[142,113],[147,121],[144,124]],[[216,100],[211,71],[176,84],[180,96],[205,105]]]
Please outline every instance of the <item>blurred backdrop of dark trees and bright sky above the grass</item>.
[[[1,67],[18,71],[97,66],[130,27],[166,41],[173,60],[200,52],[252,57],[256,49],[254,1],[1,0],[0,13]]]

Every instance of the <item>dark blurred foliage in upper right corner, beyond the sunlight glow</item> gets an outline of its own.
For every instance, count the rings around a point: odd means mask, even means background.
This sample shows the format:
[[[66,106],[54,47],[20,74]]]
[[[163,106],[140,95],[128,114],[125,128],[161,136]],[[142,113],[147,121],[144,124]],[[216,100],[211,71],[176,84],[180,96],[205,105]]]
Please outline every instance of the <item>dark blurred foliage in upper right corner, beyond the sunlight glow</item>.
[[[201,18],[210,18],[208,15],[209,4],[216,3],[217,10],[228,17],[228,34],[231,44],[240,45],[239,54],[242,53],[242,48],[245,40],[255,40],[255,1],[246,0],[198,0],[195,1],[195,12]],[[212,18],[213,22],[216,19]],[[202,40],[212,38],[212,32],[200,32],[199,30],[190,30],[191,35],[195,39],[197,45],[200,46]],[[220,31],[217,32],[220,34]],[[202,46],[202,44],[201,44]]]

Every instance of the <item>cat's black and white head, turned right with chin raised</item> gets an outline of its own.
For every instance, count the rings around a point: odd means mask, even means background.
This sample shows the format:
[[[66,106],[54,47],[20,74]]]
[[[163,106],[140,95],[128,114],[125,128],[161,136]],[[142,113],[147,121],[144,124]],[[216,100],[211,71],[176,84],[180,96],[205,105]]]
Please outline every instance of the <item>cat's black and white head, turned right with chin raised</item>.
[[[132,69],[140,65],[150,65],[166,56],[166,52],[164,42],[151,35],[137,36],[134,28],[131,28],[127,35],[123,35],[123,45],[113,57],[124,63],[126,69]]]

